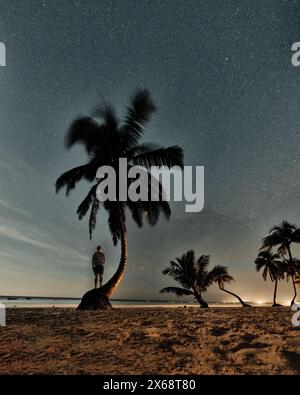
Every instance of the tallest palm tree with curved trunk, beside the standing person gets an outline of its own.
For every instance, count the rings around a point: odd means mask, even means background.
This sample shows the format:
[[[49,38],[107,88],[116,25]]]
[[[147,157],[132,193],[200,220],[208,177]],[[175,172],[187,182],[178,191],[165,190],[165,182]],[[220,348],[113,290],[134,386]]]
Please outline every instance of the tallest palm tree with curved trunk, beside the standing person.
[[[183,152],[178,146],[163,148],[153,144],[140,144],[145,124],[155,111],[155,105],[148,90],[138,90],[131,98],[127,114],[122,123],[119,122],[113,108],[107,104],[96,109],[94,117],[83,116],[70,126],[66,136],[67,148],[76,143],[82,144],[88,154],[86,164],[77,166],[62,174],[56,181],[56,192],[66,187],[66,194],[75,188],[81,180],[95,182],[100,166],[112,166],[119,179],[119,158],[126,158],[128,169],[134,165],[143,166],[147,170],[151,166],[183,167]],[[127,169],[127,171],[128,171]],[[151,175],[149,175],[149,183]],[[127,266],[127,234],[126,209],[131,212],[133,220],[141,227],[144,219],[155,225],[161,213],[169,218],[169,204],[161,199],[162,185],[156,191],[158,201],[111,201],[103,203],[96,197],[96,189],[100,179],[91,187],[85,199],[79,205],[77,214],[82,219],[90,210],[89,233],[92,237],[96,227],[96,217],[100,206],[108,214],[108,225],[114,245],[120,241],[121,256],[119,266],[111,279],[101,288],[88,291],[82,298],[79,309],[97,309],[110,306],[109,298],[120,284]],[[131,180],[133,182],[133,180]],[[128,180],[130,185],[130,180]],[[118,186],[118,182],[117,182]],[[104,192],[104,191],[103,191]],[[118,196],[118,194],[117,194]]]

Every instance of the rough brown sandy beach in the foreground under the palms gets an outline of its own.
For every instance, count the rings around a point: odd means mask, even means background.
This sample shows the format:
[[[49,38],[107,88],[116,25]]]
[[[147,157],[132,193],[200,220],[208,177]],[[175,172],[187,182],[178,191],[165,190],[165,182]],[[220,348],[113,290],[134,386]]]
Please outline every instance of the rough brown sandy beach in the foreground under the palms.
[[[291,316],[287,307],[8,309],[0,374],[299,374]]]

